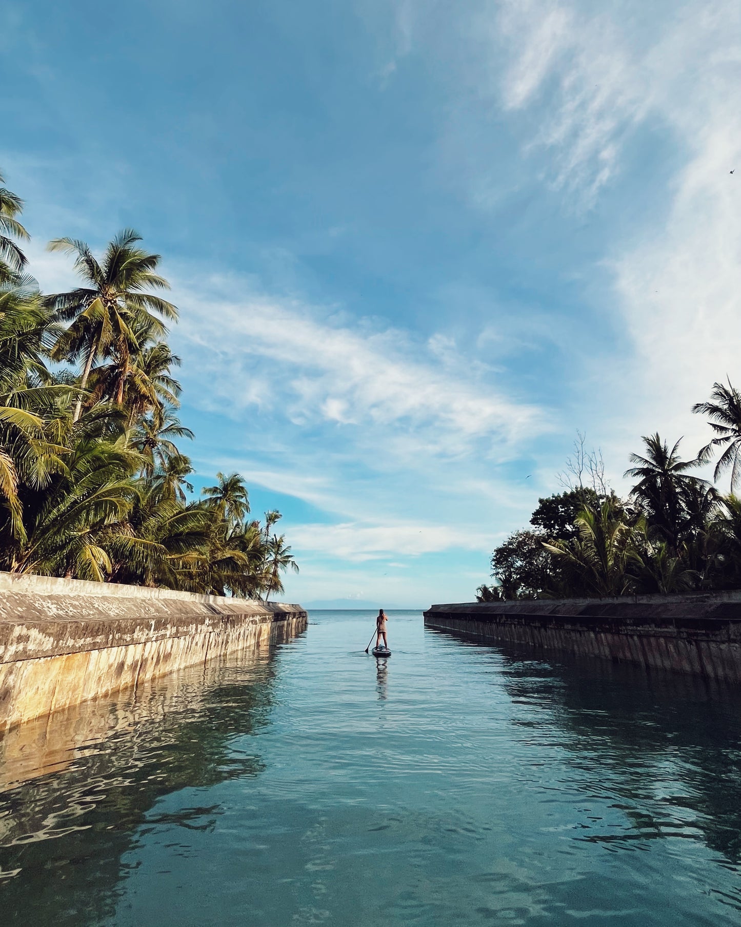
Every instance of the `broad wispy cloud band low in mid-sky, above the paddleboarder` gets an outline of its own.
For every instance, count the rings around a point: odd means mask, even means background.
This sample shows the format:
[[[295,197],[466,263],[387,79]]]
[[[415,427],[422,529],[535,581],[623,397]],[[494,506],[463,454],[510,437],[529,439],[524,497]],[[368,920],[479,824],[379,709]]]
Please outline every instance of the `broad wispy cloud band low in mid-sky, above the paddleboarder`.
[[[378,320],[250,296],[236,278],[211,281],[207,296],[177,289],[189,404],[250,423],[253,436],[252,448],[211,465],[328,516],[290,527],[313,568],[491,547],[501,532],[490,513],[521,495],[497,464],[553,426],[545,409],[508,395],[499,371],[449,336],[415,338]],[[210,454],[195,448],[195,460],[201,467]],[[461,517],[474,485],[475,525]]]

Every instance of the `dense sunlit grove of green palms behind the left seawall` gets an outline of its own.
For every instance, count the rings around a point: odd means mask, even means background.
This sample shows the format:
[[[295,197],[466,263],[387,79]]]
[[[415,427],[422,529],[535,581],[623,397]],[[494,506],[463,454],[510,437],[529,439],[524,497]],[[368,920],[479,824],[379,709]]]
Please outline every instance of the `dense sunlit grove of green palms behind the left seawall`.
[[[50,243],[80,286],[44,295],[27,273],[22,201],[0,176],[0,569],[260,596],[297,570],[275,525],[251,519],[245,481],[193,498],[178,438],[180,365],[165,337],[159,255],[130,229],[100,260]]]

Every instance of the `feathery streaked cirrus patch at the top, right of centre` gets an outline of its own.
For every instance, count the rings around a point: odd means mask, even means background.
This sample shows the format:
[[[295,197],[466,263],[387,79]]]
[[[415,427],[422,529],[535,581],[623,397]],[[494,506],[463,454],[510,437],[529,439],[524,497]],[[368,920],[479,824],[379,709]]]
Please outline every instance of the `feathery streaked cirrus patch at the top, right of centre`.
[[[612,12],[507,0],[497,20],[498,43],[509,50],[500,81],[505,108],[546,110],[524,153],[552,152],[546,182],[583,207],[619,169],[622,144],[646,118],[654,90],[650,48]]]

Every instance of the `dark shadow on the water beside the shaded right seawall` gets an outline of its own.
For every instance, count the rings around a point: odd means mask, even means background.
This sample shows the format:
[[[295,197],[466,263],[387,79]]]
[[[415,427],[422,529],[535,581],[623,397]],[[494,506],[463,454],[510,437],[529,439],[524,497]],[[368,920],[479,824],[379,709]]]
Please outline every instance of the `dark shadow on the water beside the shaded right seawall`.
[[[511,722],[520,737],[557,737],[584,794],[633,820],[630,834],[597,827],[581,839],[699,837],[741,862],[741,692],[681,673],[456,640],[499,657],[505,691],[522,709]]]

